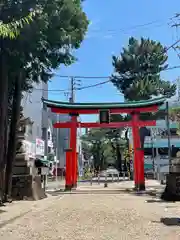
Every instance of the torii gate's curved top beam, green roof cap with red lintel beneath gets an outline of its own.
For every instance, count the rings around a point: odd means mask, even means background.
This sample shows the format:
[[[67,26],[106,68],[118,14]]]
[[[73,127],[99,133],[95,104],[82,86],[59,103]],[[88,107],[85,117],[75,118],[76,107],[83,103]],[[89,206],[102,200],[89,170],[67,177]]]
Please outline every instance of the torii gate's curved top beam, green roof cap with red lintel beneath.
[[[97,114],[100,110],[108,109],[110,113],[140,113],[156,112],[164,104],[164,97],[145,101],[132,101],[125,103],[69,103],[43,99],[43,103],[54,113],[61,114]]]

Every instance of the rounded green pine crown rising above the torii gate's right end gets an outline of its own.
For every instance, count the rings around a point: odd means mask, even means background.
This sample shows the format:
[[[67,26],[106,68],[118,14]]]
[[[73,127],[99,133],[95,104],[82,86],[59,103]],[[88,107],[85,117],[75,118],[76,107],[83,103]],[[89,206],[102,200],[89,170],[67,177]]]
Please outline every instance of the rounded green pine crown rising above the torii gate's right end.
[[[128,101],[147,100],[160,94],[169,98],[175,94],[176,85],[160,76],[168,67],[167,58],[159,42],[131,37],[120,56],[113,56],[112,83]]]

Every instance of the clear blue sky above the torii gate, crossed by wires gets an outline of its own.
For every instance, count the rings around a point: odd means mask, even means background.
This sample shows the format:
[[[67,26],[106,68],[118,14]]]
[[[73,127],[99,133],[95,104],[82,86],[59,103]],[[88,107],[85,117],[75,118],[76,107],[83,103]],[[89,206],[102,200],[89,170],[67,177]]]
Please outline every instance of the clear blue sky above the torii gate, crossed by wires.
[[[149,37],[169,46],[180,37],[172,29],[170,18],[180,12],[179,0],[86,0],[84,10],[91,24],[81,48],[75,52],[78,61],[70,67],[61,66],[56,71],[59,75],[109,76],[113,72],[112,55],[118,55],[126,47],[129,37]],[[152,23],[152,24],[147,24]],[[140,25],[145,26],[140,26]],[[180,65],[176,53],[168,53],[169,66]],[[175,80],[180,69],[166,71],[164,79]],[[96,84],[102,79],[82,79],[81,86]],[[70,80],[54,77],[49,83],[50,90],[69,89]],[[67,101],[62,92],[49,92],[49,99]],[[111,84],[89,88],[76,92],[76,102],[121,102],[123,97]],[[92,116],[82,116],[91,120]]]

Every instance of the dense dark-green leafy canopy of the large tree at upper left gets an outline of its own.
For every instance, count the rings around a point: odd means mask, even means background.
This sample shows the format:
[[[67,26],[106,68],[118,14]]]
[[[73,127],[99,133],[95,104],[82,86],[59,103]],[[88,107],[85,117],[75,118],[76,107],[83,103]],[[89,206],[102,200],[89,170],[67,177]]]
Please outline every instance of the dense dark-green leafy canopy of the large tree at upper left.
[[[35,11],[37,8],[40,14],[34,16],[34,21],[21,28],[14,41],[5,41],[3,47],[11,55],[11,67],[16,62],[15,67],[25,67],[31,79],[47,81],[52,76],[49,74],[52,69],[75,61],[72,50],[80,46],[88,20],[80,0],[31,0],[28,3],[18,1],[17,4],[12,1],[10,7],[1,7],[0,20],[7,23],[9,16],[13,16],[12,21],[15,17],[21,19],[30,14],[29,9]]]

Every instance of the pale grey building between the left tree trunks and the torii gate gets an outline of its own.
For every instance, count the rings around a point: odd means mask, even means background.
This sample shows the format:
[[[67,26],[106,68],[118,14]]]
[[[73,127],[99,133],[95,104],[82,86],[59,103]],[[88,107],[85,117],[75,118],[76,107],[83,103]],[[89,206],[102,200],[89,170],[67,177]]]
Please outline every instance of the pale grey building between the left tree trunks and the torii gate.
[[[44,155],[53,151],[51,140],[51,122],[48,119],[47,108],[43,106],[42,98],[48,98],[48,84],[40,82],[34,84],[31,93],[25,93],[21,105],[23,107],[23,115],[30,118],[33,122],[30,134],[27,134],[26,140],[36,142],[36,139],[42,139],[45,142]],[[49,138],[49,139],[48,139]]]

